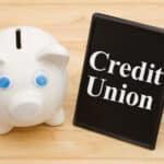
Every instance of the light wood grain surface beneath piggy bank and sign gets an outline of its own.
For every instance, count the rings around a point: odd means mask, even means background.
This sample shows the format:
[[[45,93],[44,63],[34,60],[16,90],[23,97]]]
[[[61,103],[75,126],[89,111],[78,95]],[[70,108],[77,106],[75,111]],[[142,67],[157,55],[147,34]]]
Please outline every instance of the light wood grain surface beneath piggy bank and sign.
[[[164,119],[154,151],[72,126],[94,12],[164,27],[164,0],[0,0],[0,28],[35,25],[70,51],[65,124],[15,128],[0,136],[0,164],[164,164]]]

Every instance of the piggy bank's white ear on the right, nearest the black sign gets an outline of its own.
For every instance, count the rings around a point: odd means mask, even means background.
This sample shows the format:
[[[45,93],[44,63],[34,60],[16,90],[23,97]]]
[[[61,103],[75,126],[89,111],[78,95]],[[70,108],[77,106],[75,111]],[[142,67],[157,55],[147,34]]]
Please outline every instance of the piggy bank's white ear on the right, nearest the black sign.
[[[56,43],[52,46],[42,49],[38,52],[37,59],[39,61],[45,61],[45,62],[56,65],[58,68],[63,70],[67,67],[69,60],[69,54],[63,46]]]

